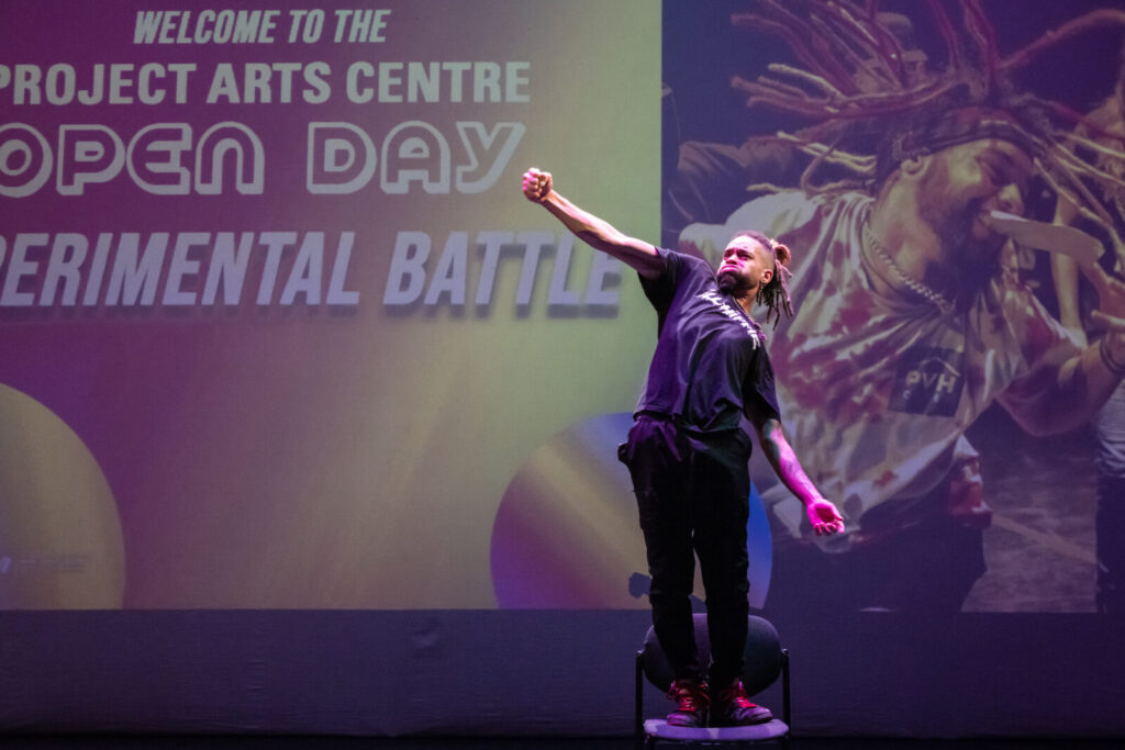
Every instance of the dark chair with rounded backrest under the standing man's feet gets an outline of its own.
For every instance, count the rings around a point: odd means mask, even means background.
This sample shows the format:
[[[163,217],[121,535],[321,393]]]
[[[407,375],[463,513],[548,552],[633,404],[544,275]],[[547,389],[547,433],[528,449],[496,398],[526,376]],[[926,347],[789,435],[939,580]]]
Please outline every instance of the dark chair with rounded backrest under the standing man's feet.
[[[708,663],[711,649],[706,633],[706,615],[692,615],[695,622],[695,644],[699,648],[701,663]],[[664,719],[645,720],[644,685],[645,678],[667,693],[674,676],[667,657],[656,640],[656,633],[648,629],[645,645],[637,652],[636,704],[633,716],[633,733],[638,750],[655,748],[657,743],[736,743],[773,741],[782,748],[789,747],[790,737],[790,686],[789,686],[789,652],[781,648],[777,631],[767,620],[750,615],[749,632],[746,636],[746,667],[742,670],[742,685],[746,693],[754,696],[773,685],[777,677],[782,680],[782,715],[774,716],[770,722],[749,726],[669,726]]]

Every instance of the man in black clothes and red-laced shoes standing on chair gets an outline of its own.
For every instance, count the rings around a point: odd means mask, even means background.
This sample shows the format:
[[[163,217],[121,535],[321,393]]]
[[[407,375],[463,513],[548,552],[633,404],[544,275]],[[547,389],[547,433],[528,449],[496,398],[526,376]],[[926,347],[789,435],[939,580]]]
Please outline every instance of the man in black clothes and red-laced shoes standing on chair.
[[[629,467],[651,585],[652,625],[668,657],[681,726],[756,724],[772,719],[749,702],[741,680],[749,604],[746,522],[752,442],[758,435],[777,477],[804,504],[817,534],[844,530],[836,507],[812,485],[782,433],[765,333],[792,315],[785,281],[790,251],[763,234],[740,232],[718,272],[703,260],[626,236],[555,192],[551,175],[523,175],[523,195],[579,240],[640,275],[657,310],[658,341],[619,458]],[[699,661],[688,597],[695,555],[706,596],[712,663]]]

